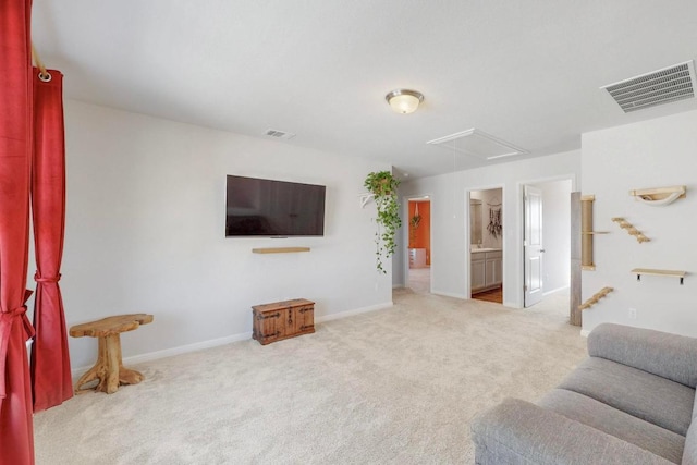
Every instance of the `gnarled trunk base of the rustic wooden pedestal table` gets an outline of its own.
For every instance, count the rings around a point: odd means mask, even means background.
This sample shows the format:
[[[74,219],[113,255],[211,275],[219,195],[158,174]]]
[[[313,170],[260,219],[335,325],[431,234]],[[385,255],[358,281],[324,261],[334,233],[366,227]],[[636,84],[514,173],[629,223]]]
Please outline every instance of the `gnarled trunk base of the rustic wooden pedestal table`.
[[[99,338],[97,363],[80,378],[75,384],[75,394],[91,391],[93,389],[81,389],[81,387],[96,379],[99,383],[94,390],[107,394],[117,392],[121,384],[137,384],[143,381],[144,376],[140,372],[123,367],[119,334]]]

